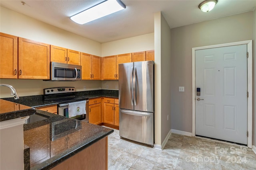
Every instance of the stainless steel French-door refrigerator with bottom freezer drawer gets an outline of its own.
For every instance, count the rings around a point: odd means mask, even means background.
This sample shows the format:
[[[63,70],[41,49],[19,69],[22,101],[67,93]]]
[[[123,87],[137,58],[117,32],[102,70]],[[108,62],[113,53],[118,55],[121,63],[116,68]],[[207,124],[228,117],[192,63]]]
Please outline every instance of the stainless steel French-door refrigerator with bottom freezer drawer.
[[[154,61],[118,64],[119,135],[154,145]]]

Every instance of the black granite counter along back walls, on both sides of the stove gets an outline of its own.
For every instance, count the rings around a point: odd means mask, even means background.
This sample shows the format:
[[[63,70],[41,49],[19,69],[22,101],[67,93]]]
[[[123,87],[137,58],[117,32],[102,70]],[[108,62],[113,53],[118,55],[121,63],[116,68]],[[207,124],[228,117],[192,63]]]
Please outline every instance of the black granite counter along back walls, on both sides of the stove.
[[[75,95],[78,97],[84,97],[89,99],[97,98],[97,97],[118,98],[118,90],[81,91],[81,92],[75,92]],[[14,98],[3,98],[3,99],[18,103],[18,104],[30,106],[30,107],[43,107],[43,106],[51,106],[51,105],[58,104],[58,102],[50,102],[50,101],[43,100],[43,95],[21,96],[18,100],[15,100]]]

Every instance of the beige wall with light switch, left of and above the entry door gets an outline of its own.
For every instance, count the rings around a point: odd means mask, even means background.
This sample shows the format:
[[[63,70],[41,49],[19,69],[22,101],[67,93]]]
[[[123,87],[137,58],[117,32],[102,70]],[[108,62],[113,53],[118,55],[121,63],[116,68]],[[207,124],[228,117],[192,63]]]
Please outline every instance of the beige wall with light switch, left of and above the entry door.
[[[192,133],[192,47],[253,39],[253,12],[173,28],[171,35],[172,129]]]

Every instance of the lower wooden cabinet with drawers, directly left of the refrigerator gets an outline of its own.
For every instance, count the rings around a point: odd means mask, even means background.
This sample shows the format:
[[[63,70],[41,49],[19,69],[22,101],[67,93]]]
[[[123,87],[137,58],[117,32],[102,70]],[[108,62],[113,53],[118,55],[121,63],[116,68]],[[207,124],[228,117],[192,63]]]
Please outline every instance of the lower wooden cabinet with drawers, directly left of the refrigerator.
[[[103,98],[103,123],[119,129],[119,105],[118,99]],[[104,124],[105,125],[105,124]],[[113,126],[112,126],[113,125]]]

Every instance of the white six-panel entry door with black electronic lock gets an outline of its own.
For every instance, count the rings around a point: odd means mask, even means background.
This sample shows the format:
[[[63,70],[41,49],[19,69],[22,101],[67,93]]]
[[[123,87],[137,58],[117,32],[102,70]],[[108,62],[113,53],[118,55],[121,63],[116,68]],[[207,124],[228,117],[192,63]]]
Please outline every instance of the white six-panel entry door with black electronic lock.
[[[196,135],[247,144],[246,54],[247,45],[196,50]]]

